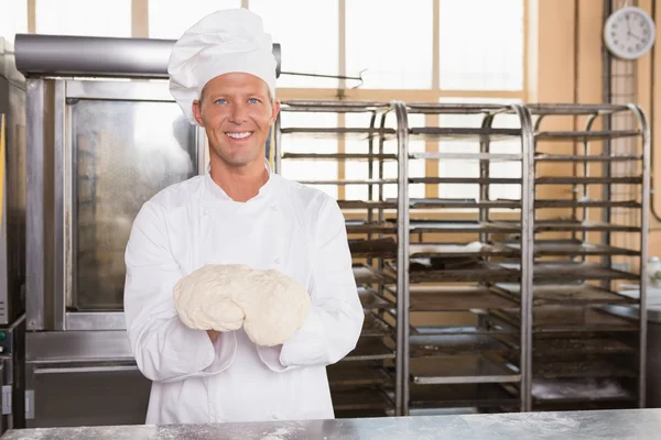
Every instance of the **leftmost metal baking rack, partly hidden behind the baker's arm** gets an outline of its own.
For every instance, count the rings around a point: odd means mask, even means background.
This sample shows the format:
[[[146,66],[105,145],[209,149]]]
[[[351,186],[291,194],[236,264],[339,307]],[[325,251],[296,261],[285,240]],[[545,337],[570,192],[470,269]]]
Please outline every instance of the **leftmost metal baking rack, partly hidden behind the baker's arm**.
[[[296,118],[296,113],[315,114],[315,118],[304,120]],[[346,213],[354,276],[365,309],[365,324],[356,349],[327,369],[337,417],[392,414],[398,389],[401,388],[397,383],[395,364],[398,356],[402,356],[397,343],[398,292],[402,290],[398,290],[397,277],[383,270],[389,262],[397,261],[398,254],[398,222],[386,219],[387,216],[397,218],[398,204],[386,201],[383,190],[386,185],[398,184],[397,177],[387,178],[383,169],[383,163],[397,163],[397,146],[394,153],[387,152],[386,146],[390,142],[401,142],[398,114],[397,106],[383,102],[296,100],[282,102],[275,123],[274,168],[277,173],[284,168],[285,177],[286,166],[293,162],[323,161],[338,169],[350,163],[361,163],[367,167],[366,178],[359,180],[342,178],[343,173],[333,179],[297,179],[319,188],[367,187],[367,197],[361,200],[338,197],[338,205]],[[315,125],[317,121],[328,122],[330,119],[334,121],[325,127]],[[306,125],[303,124],[305,122]],[[289,143],[296,139],[307,141],[308,147],[289,151]],[[323,140],[337,141],[338,148],[318,151],[317,141]],[[353,142],[355,151],[346,151],[345,145],[349,142]],[[338,195],[344,191],[338,189]]]

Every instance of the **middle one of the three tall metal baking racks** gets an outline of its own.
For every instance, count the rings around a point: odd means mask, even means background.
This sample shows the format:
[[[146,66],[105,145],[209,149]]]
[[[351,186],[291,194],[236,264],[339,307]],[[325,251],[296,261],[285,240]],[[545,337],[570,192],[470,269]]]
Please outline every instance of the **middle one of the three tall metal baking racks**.
[[[484,318],[487,310],[528,307],[524,297],[514,301],[492,285],[516,283],[525,290],[532,280],[532,229],[523,216],[532,199],[531,174],[525,173],[532,165],[529,114],[519,106],[442,103],[411,103],[407,113],[409,141],[424,141],[425,151],[403,155],[401,170],[412,169],[414,161],[472,161],[478,172],[403,176],[408,187],[422,185],[424,197],[409,197],[407,204],[405,263],[387,266],[393,276],[409,267],[409,312],[400,318],[410,329],[399,348],[409,354],[398,371],[405,378],[401,413],[442,414],[457,405],[479,411],[523,408],[523,351],[507,341],[525,344],[525,318],[519,330],[487,326]],[[413,125],[416,116],[422,127]],[[516,123],[501,123],[503,118]],[[495,163],[516,164],[520,173],[492,175]],[[456,184],[477,187],[477,196],[442,194],[444,185]],[[517,186],[519,197],[495,197],[496,185]],[[512,245],[514,237],[523,244]]]

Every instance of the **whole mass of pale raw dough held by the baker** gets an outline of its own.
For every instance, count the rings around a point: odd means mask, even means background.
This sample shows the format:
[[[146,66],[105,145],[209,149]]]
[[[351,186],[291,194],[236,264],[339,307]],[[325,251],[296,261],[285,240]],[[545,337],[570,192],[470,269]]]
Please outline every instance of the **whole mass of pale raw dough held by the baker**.
[[[258,345],[284,343],[310,312],[307,290],[292,277],[247,265],[206,265],[174,288],[182,321],[195,329],[231,331],[243,326]]]

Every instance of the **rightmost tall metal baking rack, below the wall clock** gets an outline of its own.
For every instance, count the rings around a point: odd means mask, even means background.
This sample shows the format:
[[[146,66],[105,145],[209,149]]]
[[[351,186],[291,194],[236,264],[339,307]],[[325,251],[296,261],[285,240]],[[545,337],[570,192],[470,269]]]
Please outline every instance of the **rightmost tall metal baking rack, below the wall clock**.
[[[527,107],[535,154],[532,344],[527,353],[531,409],[643,406],[644,318],[624,319],[607,307],[632,302],[618,294],[620,283],[638,282],[642,292],[647,284],[647,121],[636,106]],[[638,129],[608,129],[616,117],[638,121]],[[618,142],[629,147],[615,148]],[[566,167],[548,176],[546,162]],[[562,169],[566,173],[559,176]],[[511,286],[499,288],[518,295]]]

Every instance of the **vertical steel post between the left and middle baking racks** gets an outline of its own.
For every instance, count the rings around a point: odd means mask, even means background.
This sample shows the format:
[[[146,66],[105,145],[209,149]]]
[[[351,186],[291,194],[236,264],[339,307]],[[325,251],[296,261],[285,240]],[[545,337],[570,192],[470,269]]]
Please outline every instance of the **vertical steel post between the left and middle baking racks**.
[[[398,416],[409,415],[409,121],[407,107],[392,101],[397,116],[397,398]]]

